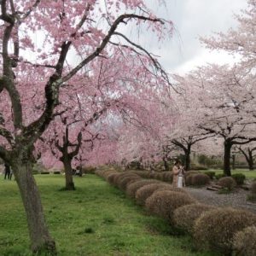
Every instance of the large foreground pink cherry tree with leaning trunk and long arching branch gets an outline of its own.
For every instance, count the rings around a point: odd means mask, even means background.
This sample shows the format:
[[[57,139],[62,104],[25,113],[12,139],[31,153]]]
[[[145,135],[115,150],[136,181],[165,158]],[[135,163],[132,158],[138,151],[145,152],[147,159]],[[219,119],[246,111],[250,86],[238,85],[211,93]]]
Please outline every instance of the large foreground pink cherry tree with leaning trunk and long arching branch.
[[[148,28],[162,39],[172,33],[172,23],[155,17],[143,0],[2,0],[0,4],[0,156],[14,170],[32,251],[54,253],[55,241],[45,224],[31,170],[34,144],[58,114],[61,91],[70,79],[90,73],[87,67],[96,58],[112,55],[113,48],[131,49],[156,79],[161,76],[168,82],[157,59],[121,28]]]

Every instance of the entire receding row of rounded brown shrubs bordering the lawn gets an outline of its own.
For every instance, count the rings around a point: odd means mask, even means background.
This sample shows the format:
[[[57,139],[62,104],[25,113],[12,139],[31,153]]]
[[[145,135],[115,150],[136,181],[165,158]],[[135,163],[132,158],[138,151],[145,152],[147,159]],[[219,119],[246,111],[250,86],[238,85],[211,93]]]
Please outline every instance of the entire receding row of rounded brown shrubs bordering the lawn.
[[[256,255],[256,215],[231,207],[212,207],[195,201],[184,189],[140,177],[137,172],[97,170],[111,185],[122,189],[148,212],[194,238],[198,249],[221,255]]]

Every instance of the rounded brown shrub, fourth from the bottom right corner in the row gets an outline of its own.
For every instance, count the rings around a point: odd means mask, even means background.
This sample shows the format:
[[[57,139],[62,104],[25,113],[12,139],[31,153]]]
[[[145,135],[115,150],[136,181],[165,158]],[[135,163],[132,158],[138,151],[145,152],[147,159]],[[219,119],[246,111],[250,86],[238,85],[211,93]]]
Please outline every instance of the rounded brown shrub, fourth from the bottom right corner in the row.
[[[195,203],[195,199],[181,192],[171,190],[155,191],[146,200],[146,208],[149,212],[166,218],[172,223],[173,212],[178,207]]]

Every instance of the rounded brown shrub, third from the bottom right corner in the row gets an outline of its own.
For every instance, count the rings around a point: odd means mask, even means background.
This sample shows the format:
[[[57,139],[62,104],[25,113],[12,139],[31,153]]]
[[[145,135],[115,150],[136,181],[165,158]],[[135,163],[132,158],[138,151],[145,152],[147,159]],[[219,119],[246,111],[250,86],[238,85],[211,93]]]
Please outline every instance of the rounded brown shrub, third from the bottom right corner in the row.
[[[173,224],[175,224],[177,228],[192,234],[195,220],[199,218],[203,212],[211,211],[213,209],[216,208],[197,203],[178,207],[173,212]]]

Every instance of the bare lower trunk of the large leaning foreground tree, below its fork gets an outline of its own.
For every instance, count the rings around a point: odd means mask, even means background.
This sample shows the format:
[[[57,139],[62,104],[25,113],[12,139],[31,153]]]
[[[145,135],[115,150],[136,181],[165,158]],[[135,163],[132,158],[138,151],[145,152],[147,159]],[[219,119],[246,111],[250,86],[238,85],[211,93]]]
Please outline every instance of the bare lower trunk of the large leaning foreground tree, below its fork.
[[[55,255],[55,241],[49,236],[45,223],[38,187],[32,176],[32,163],[29,160],[26,161],[26,164],[21,161],[15,162],[12,168],[25,207],[32,251],[38,254]]]

